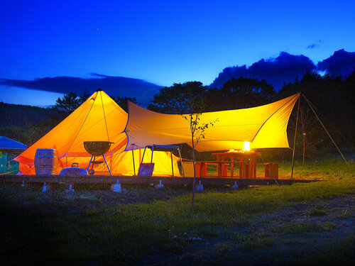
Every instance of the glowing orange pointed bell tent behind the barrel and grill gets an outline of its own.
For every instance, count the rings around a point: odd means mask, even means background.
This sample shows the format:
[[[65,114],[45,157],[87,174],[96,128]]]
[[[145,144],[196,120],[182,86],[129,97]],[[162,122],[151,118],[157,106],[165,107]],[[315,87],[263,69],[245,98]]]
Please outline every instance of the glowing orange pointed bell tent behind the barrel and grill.
[[[23,174],[35,174],[36,150],[54,148],[58,155],[58,167],[55,173],[59,174],[63,168],[70,167],[73,162],[77,162],[81,168],[87,168],[92,155],[84,149],[84,141],[111,141],[113,144],[105,157],[112,174],[133,175],[135,172],[137,174],[143,151],[134,151],[134,154],[124,152],[127,143],[124,133],[127,119],[128,114],[105,92],[98,90],[70,116],[14,160],[20,163],[20,171]],[[144,162],[150,162],[150,158],[145,156]],[[178,175],[179,159],[173,158],[174,175]],[[170,153],[154,152],[153,162],[155,163],[153,175],[171,175]],[[95,165],[94,170],[96,174],[109,173],[105,164]]]

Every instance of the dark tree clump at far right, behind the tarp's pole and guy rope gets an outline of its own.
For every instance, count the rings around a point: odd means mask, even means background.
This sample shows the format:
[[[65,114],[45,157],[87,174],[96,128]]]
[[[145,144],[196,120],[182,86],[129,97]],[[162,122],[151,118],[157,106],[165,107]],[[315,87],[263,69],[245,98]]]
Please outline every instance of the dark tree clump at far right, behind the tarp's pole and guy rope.
[[[313,105],[318,116],[324,123],[329,133],[336,139],[342,150],[354,150],[354,123],[351,117],[354,116],[354,93],[355,70],[347,77],[325,74],[324,77],[316,72],[306,73],[301,80],[295,80],[290,84],[285,84],[278,92],[277,98],[281,99],[291,94],[302,92]],[[301,106],[305,113],[309,107],[305,99],[301,98]],[[297,111],[297,110],[296,110]],[[310,123],[312,131],[307,133],[307,142],[312,143],[312,149],[319,150],[324,147],[333,148],[333,144],[327,133],[318,121],[313,123],[315,116],[310,113],[307,121]],[[350,120],[349,120],[350,119]],[[293,123],[293,125],[292,125]],[[293,111],[293,121],[289,128],[289,136],[293,138],[295,130],[295,110]],[[302,143],[302,128],[297,133],[297,143]],[[297,148],[302,150],[302,148]],[[332,150],[334,152],[335,149]],[[299,153],[300,154],[300,153]],[[312,154],[312,153],[311,153]]]

